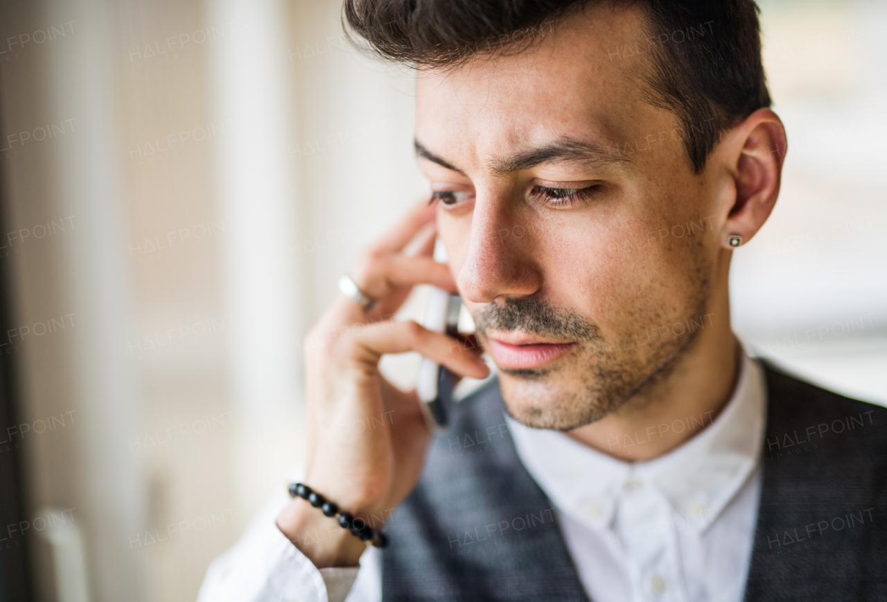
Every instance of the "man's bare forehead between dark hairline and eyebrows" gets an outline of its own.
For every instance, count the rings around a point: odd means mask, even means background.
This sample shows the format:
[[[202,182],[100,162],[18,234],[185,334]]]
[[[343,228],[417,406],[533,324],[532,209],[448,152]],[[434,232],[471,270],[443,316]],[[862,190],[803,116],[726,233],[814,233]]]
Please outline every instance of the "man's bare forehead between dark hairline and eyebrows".
[[[643,100],[645,59],[620,59],[615,50],[642,46],[645,37],[639,9],[600,5],[546,28],[545,36],[512,56],[422,71],[416,138],[469,162],[467,155],[563,136],[626,139],[643,123],[662,119],[662,110]]]

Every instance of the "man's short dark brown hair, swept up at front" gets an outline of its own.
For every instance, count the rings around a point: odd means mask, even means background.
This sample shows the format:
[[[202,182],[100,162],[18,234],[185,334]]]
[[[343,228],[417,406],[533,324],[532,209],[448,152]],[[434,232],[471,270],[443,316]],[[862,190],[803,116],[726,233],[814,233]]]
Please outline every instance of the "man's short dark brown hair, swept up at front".
[[[478,55],[522,51],[557,20],[605,0],[344,0],[353,44],[411,67],[457,67]],[[645,40],[619,40],[610,59],[646,51],[647,101],[683,125],[695,173],[723,133],[770,106],[754,0],[636,0]],[[516,33],[521,33],[517,39]],[[503,44],[501,41],[505,39]],[[631,46],[622,45],[631,43]],[[624,56],[623,56],[624,51]]]

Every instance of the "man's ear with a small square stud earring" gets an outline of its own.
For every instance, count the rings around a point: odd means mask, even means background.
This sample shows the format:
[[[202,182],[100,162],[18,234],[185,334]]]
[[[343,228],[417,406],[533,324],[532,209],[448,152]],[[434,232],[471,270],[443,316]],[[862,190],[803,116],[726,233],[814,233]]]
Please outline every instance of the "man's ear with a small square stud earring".
[[[723,143],[721,159],[726,161],[735,195],[725,198],[729,206],[720,236],[721,246],[731,249],[749,242],[770,217],[779,196],[788,143],[779,115],[769,108],[749,115]]]

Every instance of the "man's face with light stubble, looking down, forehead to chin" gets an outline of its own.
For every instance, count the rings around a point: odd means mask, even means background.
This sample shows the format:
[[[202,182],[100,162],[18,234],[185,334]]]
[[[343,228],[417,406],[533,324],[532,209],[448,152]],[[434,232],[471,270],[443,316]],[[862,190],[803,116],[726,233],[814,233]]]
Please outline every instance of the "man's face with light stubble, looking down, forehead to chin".
[[[638,12],[601,7],[527,51],[419,76],[438,230],[523,424],[606,416],[711,322],[711,186],[677,118],[643,99],[646,58],[613,50],[647,36]]]

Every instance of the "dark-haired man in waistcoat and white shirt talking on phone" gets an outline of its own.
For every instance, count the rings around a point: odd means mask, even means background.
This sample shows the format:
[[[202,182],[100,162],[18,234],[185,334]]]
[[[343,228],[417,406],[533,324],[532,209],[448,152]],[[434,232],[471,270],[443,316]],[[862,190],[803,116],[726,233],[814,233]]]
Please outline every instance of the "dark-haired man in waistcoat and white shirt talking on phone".
[[[417,69],[432,204],[359,257],[306,343],[299,493],[323,497],[269,507],[201,600],[887,599],[887,410],[751,360],[730,328],[730,259],[787,149],[757,6],[344,15]],[[434,439],[381,355],[487,368],[471,339],[386,319],[421,283],[459,292],[498,368]]]

